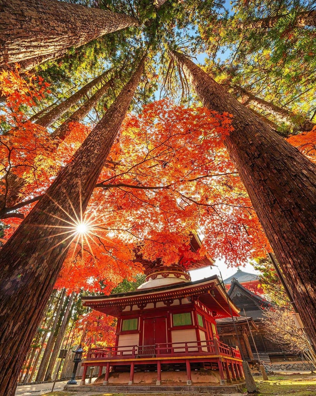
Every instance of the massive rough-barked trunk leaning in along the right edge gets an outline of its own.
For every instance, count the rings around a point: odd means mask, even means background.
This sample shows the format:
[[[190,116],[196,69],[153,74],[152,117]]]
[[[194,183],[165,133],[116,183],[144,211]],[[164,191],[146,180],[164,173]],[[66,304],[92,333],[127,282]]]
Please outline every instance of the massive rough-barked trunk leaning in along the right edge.
[[[233,114],[225,139],[254,209],[316,344],[316,167],[184,55],[173,57],[203,106]]]

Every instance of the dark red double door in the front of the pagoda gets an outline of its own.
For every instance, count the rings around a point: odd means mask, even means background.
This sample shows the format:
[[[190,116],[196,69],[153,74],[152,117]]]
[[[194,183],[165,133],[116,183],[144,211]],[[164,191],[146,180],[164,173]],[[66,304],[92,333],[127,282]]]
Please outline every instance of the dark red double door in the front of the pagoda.
[[[144,342],[142,354],[153,355],[154,345],[167,342],[166,317],[144,319]],[[165,353],[161,350],[160,353]]]

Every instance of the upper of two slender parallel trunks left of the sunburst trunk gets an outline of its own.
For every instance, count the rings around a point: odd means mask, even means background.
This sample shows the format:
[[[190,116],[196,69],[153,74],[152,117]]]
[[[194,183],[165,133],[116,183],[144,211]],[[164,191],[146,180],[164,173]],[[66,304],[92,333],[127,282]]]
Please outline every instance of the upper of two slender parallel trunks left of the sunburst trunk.
[[[36,124],[44,126],[48,128],[51,126],[58,118],[60,118],[70,107],[74,106],[81,98],[83,98],[87,93],[93,88],[96,84],[99,84],[104,77],[107,76],[111,72],[112,69],[106,70],[100,76],[94,78],[94,80],[90,81],[88,84],[83,86],[79,91],[71,95],[68,99],[59,103],[56,107],[51,109],[48,113],[38,118]]]

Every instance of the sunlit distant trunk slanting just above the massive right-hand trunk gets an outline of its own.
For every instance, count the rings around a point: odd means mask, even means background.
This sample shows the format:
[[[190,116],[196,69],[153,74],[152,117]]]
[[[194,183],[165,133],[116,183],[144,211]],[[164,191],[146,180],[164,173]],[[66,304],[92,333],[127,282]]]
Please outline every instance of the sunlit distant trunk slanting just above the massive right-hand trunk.
[[[286,123],[293,127],[293,129],[298,129],[299,131],[309,132],[316,124],[304,117],[298,117],[289,110],[282,109],[282,107],[276,106],[271,102],[267,102],[264,99],[258,98],[251,92],[246,91],[246,89],[237,87],[240,92],[243,103],[245,105],[253,105],[258,107],[258,109],[264,110],[270,113],[277,122]]]

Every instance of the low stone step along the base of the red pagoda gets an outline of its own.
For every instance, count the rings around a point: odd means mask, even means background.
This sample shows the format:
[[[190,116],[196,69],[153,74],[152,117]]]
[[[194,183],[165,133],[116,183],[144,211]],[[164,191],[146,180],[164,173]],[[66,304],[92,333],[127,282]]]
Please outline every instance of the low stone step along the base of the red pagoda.
[[[177,386],[139,386],[139,385],[66,385],[64,387],[65,392],[122,392],[122,393],[157,393],[157,392],[188,392],[189,394],[194,393],[241,393],[245,383],[239,383],[234,385],[221,385],[221,386],[199,386],[199,385],[177,385]]]

